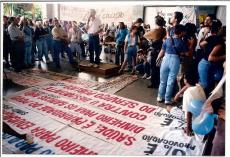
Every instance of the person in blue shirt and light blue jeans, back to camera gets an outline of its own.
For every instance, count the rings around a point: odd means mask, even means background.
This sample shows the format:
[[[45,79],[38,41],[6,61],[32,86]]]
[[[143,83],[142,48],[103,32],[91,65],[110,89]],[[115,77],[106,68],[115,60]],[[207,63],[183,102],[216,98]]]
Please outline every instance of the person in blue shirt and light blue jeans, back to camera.
[[[165,104],[172,103],[173,87],[180,68],[180,56],[188,55],[187,44],[181,39],[183,31],[183,25],[176,25],[174,36],[165,40],[157,57],[159,60],[164,56],[160,67],[158,102],[165,100]]]

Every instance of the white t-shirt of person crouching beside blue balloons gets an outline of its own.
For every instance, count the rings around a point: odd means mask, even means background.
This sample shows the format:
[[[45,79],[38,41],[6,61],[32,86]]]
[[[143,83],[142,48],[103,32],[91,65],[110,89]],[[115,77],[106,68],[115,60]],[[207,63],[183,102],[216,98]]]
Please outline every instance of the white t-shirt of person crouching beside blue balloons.
[[[199,84],[197,84],[194,87],[189,87],[184,92],[182,111],[184,111],[185,113],[187,112],[188,106],[192,100],[201,100],[201,101],[206,100],[206,95],[204,93],[204,90]]]

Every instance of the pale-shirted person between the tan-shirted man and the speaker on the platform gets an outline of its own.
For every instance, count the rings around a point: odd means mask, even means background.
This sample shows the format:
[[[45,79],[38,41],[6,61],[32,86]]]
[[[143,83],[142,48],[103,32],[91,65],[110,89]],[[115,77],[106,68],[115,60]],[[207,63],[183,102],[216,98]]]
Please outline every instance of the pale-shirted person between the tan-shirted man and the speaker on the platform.
[[[81,46],[80,43],[82,42],[81,39],[81,31],[78,29],[77,22],[73,21],[72,22],[72,28],[70,28],[68,32],[68,38],[70,40],[70,49],[71,52],[74,56],[76,56],[76,53],[81,54]]]

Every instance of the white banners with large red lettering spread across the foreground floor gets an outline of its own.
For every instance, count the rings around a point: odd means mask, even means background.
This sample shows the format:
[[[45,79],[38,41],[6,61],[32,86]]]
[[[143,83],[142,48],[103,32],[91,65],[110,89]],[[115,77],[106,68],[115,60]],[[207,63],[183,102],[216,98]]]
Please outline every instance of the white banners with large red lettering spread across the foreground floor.
[[[186,123],[157,106],[66,82],[33,87],[6,101],[15,109],[4,107],[4,122],[20,132],[31,131],[39,147],[55,154],[202,154],[201,138],[185,135]],[[17,110],[19,106],[23,111]],[[8,147],[14,137],[5,136]]]

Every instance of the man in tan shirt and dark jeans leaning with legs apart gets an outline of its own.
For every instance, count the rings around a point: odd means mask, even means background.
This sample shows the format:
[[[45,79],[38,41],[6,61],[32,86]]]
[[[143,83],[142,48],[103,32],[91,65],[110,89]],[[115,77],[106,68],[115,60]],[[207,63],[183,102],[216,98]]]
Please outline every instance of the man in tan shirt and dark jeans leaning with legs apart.
[[[53,60],[56,65],[56,68],[61,68],[59,54],[62,51],[65,51],[69,57],[69,63],[73,64],[73,56],[70,48],[68,47],[69,41],[66,32],[60,26],[57,19],[54,20],[54,28],[52,29],[53,35],[53,47],[54,47],[54,56]]]

